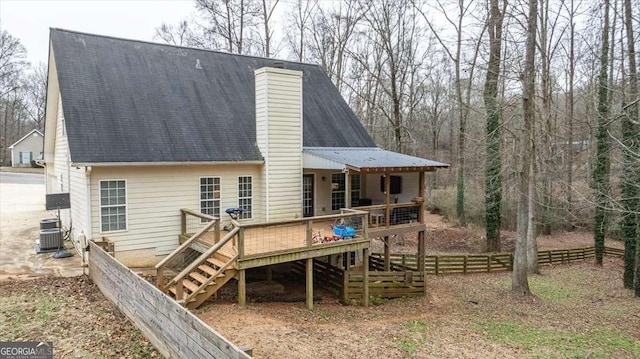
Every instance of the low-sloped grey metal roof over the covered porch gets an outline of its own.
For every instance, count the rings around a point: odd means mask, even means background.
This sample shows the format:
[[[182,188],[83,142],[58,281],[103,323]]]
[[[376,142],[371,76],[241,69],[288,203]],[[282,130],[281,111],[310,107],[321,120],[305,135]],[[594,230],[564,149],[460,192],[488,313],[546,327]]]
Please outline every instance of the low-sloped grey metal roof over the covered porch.
[[[362,173],[427,172],[448,164],[377,147],[304,147],[305,168],[352,169]]]

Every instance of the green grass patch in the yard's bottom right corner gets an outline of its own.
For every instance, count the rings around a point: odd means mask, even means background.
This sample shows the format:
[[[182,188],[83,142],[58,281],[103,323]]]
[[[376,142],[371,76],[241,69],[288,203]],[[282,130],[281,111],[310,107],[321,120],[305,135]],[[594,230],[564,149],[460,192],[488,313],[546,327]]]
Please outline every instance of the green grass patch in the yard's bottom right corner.
[[[609,358],[640,356],[640,343],[626,333],[598,327],[588,334],[540,328],[513,321],[478,324],[489,339],[530,352],[532,358]]]

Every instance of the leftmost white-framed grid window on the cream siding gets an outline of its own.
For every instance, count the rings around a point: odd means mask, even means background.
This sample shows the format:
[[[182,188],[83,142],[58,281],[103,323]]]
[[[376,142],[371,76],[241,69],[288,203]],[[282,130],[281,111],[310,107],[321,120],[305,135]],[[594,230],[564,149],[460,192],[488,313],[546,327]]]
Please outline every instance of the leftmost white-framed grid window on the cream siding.
[[[100,228],[102,232],[127,229],[127,190],[124,180],[100,181]]]

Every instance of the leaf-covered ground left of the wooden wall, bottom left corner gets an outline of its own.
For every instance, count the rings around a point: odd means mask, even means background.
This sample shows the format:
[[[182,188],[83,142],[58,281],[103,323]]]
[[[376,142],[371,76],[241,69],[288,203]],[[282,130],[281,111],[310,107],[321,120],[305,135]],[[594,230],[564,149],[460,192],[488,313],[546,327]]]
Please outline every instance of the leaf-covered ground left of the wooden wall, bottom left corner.
[[[51,341],[56,359],[160,357],[86,276],[1,280],[0,340]]]

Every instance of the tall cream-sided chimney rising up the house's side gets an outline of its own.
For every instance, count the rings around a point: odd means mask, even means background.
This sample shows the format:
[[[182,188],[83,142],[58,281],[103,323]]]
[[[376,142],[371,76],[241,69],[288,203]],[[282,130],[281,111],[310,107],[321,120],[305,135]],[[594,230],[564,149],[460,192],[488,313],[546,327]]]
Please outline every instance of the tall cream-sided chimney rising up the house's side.
[[[302,73],[256,70],[256,138],[267,220],[302,216]]]

